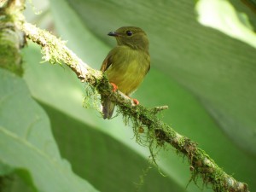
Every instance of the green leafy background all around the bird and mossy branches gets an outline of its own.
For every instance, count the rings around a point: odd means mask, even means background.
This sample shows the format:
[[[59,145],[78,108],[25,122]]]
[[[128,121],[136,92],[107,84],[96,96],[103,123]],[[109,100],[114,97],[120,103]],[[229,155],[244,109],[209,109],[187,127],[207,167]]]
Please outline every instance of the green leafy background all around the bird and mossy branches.
[[[33,3],[43,12],[34,15],[28,4],[27,20],[67,40],[67,46],[95,68],[115,44],[108,32],[119,26],[142,27],[148,33],[152,67],[134,97],[149,108],[168,105],[160,115],[167,124],[193,139],[251,191],[256,189],[256,20],[246,4]],[[214,14],[209,15],[209,8]],[[0,174],[11,174],[11,181],[3,179],[3,191],[199,190],[194,183],[186,189],[188,163],[172,148],[157,156],[166,177],[148,169],[148,148],[135,142],[121,115],[103,120],[94,109],[82,107],[84,84],[71,70],[38,64],[42,55],[34,44],[28,44],[23,55],[23,79],[0,71]],[[200,180],[198,185],[212,191]]]

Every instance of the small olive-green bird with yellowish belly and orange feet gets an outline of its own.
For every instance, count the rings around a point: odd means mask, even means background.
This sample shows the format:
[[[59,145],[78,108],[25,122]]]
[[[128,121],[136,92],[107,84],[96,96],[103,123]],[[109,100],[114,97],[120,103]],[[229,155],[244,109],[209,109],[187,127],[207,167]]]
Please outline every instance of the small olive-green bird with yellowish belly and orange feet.
[[[110,50],[102,62],[101,71],[107,73],[113,90],[119,89],[130,96],[137,90],[150,68],[147,35],[136,26],[123,26],[108,35],[116,38],[117,46]],[[138,104],[136,99],[133,101]],[[115,103],[108,98],[102,100],[104,119],[112,117],[114,107]]]

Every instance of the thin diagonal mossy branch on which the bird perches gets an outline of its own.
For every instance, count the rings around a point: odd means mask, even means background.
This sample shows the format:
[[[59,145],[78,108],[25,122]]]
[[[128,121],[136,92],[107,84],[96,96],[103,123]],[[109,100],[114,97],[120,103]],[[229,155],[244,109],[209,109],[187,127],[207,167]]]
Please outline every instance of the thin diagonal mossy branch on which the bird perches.
[[[192,172],[191,180],[195,181],[197,177],[201,177],[205,184],[212,183],[212,189],[218,192],[249,191],[246,183],[238,182],[225,173],[201,148],[197,147],[195,142],[178,134],[158,119],[156,113],[166,107],[148,109],[142,105],[134,106],[131,99],[120,91],[113,93],[108,79],[102,72],[81,61],[61,39],[29,23],[24,23],[22,30],[26,33],[26,38],[41,46],[45,61],[67,64],[82,82],[93,86],[101,96],[115,101],[119,111],[131,119],[134,127],[147,127],[149,136],[157,146],[172,145],[180,154],[186,156],[190,164],[189,170]]]

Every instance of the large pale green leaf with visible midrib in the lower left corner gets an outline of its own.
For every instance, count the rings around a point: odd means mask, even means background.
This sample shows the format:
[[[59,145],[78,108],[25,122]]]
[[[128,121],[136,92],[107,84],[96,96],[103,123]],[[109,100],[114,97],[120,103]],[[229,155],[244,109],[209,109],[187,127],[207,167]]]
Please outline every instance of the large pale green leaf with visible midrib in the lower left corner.
[[[7,173],[3,169],[6,166],[15,169],[25,181],[33,181],[39,191],[97,191],[61,159],[49,119],[33,101],[25,81],[3,69],[0,77],[2,172]]]

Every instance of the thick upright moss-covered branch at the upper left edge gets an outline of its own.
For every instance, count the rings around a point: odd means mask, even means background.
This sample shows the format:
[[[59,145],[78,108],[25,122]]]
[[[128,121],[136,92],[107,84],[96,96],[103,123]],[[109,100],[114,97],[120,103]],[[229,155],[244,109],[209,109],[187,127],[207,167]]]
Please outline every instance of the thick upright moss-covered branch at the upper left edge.
[[[23,19],[21,10],[23,0],[0,1],[0,67],[21,76],[20,48],[25,44],[25,37],[17,26]]]

